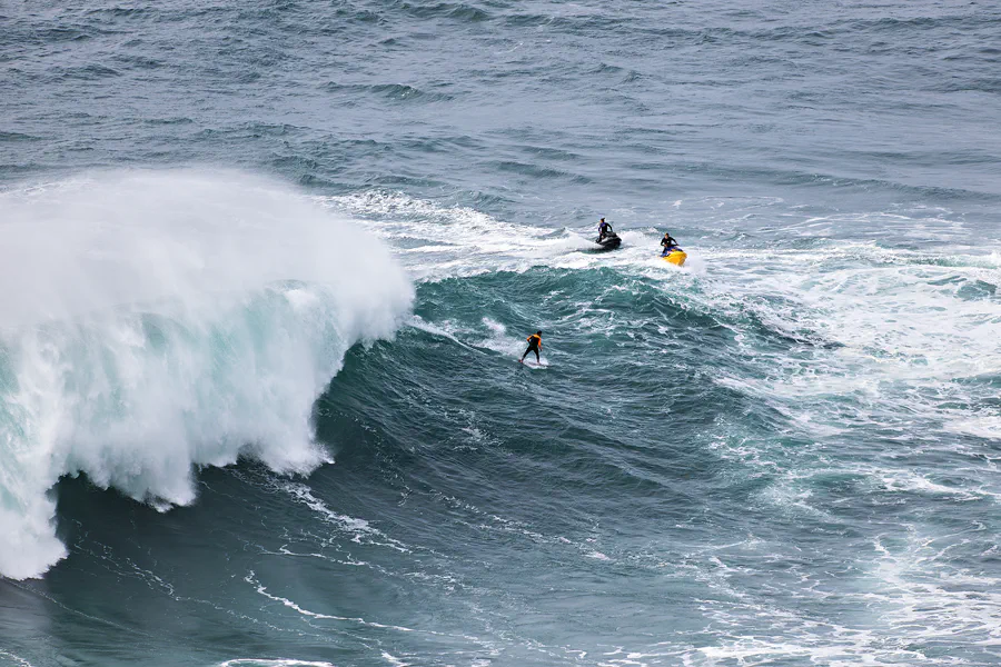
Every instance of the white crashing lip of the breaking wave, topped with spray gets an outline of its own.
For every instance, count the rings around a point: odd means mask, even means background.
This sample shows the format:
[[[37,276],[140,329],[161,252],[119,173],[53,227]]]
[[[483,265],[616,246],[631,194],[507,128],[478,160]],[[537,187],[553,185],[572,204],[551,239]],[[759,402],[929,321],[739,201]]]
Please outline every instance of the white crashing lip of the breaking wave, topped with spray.
[[[241,173],[100,173],[4,192],[0,574],[66,556],[49,491],[159,507],[240,456],[308,472],[313,400],[413,299],[377,241]]]

